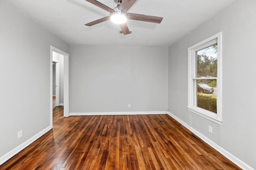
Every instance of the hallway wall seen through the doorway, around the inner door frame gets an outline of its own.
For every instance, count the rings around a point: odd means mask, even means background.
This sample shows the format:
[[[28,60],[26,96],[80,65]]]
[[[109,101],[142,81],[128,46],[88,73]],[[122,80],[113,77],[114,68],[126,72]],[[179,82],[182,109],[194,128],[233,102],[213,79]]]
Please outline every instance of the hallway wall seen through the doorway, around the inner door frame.
[[[60,61],[60,104],[64,104],[64,55],[52,52],[52,59]],[[55,88],[54,88],[55,89]]]

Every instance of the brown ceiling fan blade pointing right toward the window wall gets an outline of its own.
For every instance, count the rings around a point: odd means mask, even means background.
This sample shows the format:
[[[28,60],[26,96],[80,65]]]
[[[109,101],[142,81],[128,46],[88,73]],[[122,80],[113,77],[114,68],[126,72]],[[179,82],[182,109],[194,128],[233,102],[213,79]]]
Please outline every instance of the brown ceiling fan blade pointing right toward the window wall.
[[[127,19],[160,24],[163,20],[163,17],[127,13]]]

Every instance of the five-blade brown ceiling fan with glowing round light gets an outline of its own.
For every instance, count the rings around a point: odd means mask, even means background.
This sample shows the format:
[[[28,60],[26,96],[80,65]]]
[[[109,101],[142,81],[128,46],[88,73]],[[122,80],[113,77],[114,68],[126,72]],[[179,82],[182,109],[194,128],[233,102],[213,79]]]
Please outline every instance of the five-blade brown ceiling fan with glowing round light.
[[[122,33],[126,35],[126,34],[130,34],[130,30],[128,29],[128,26],[126,24],[127,19],[144,21],[144,22],[153,22],[157,24],[160,24],[161,21],[163,20],[162,17],[128,13],[127,11],[131,8],[134,2],[136,2],[136,0],[114,0],[117,6],[113,9],[109,8],[108,6],[96,0],[86,0],[86,1],[102,8],[103,10],[110,12],[109,16],[106,16],[99,20],[95,20],[93,22],[89,22],[88,24],[84,24],[86,26],[94,26],[104,21],[112,20],[113,22],[116,22],[117,24],[120,25]]]

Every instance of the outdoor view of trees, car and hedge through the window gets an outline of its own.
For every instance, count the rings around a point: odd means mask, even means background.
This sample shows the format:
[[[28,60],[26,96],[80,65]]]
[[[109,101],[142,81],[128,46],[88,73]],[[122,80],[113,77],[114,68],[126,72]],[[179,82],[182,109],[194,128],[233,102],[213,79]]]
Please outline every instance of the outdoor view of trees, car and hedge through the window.
[[[217,113],[217,43],[197,51],[197,107]]]

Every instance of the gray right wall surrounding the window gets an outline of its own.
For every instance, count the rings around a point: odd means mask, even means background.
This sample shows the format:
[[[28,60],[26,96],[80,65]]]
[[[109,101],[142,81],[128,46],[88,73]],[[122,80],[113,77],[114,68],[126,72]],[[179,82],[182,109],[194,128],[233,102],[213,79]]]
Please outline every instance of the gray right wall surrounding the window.
[[[201,134],[256,169],[256,1],[237,0],[169,47],[168,107]],[[223,32],[222,125],[187,107],[188,47]],[[208,132],[213,127],[213,134]]]

